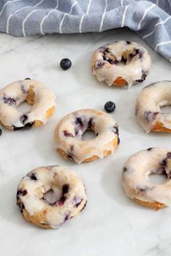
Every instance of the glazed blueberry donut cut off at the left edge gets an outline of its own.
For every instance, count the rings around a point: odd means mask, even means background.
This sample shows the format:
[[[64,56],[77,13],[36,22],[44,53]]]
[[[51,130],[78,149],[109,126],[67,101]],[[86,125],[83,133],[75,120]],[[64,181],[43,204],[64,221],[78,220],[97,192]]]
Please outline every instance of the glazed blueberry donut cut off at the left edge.
[[[17,107],[25,101],[33,107],[29,112],[22,113]],[[55,108],[54,94],[46,85],[36,80],[10,83],[0,91],[0,122],[13,131],[45,124]]]

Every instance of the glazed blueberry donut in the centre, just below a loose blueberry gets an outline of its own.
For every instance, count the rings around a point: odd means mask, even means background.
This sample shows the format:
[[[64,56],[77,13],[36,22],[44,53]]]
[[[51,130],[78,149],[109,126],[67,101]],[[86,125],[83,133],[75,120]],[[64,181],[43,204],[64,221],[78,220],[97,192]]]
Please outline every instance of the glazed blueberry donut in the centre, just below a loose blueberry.
[[[96,138],[83,141],[91,129]],[[112,154],[120,142],[117,123],[111,115],[99,110],[78,110],[64,117],[54,134],[55,148],[64,158],[89,162]]]

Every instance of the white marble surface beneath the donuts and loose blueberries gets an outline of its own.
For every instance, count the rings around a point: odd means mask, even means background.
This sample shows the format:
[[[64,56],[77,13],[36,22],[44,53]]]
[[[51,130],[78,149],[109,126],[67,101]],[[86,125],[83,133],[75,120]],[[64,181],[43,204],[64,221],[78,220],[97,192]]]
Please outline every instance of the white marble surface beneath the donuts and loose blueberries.
[[[14,38],[0,35],[0,87],[30,77],[43,81],[57,96],[57,111],[45,126],[15,133],[2,128],[0,137],[0,254],[42,256],[171,255],[171,207],[155,212],[125,197],[120,184],[122,165],[130,154],[150,146],[170,147],[169,134],[146,134],[136,123],[135,99],[143,86],[171,80],[170,63],[149,50],[152,68],[143,84],[128,89],[109,88],[91,74],[93,50],[112,40],[137,41],[135,33],[110,30],[85,35]],[[59,61],[72,59],[63,71]],[[96,108],[113,100],[112,114],[120,125],[121,143],[112,157],[77,165],[59,157],[53,148],[54,128],[73,110]],[[22,176],[40,165],[66,165],[86,184],[86,209],[59,230],[42,230],[27,223],[16,207]]]

